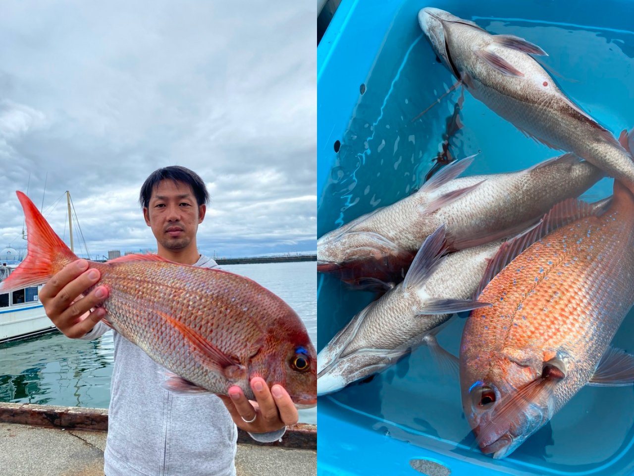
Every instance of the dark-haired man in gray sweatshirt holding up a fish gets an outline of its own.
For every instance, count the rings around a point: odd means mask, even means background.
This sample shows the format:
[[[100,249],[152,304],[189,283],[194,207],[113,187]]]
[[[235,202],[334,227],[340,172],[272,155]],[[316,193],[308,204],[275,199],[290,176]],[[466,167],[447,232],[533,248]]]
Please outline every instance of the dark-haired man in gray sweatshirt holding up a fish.
[[[197,174],[179,166],[158,169],[143,183],[139,201],[159,256],[217,267],[216,261],[199,255],[196,246],[198,224],[209,201]],[[108,330],[100,322],[105,310],[96,307],[108,297],[108,289],[98,286],[80,296],[99,279],[98,270],[88,270],[87,261],[79,260],[42,288],[46,314],[68,337],[92,340]],[[255,406],[239,387],[229,388],[230,397],[221,396],[222,401],[212,394],[169,392],[161,387],[164,367],[116,332],[114,343],[107,476],[235,475],[236,425],[256,440],[274,441],[286,425],[297,423],[297,410],[280,385],[269,391],[262,378],[252,378]]]

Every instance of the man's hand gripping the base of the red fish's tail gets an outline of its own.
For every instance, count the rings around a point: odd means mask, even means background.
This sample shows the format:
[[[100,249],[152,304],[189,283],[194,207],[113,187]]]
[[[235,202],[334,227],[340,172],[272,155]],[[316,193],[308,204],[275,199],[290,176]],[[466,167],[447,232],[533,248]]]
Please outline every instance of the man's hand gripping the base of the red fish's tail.
[[[66,265],[42,287],[39,300],[46,315],[65,336],[72,339],[85,336],[106,315],[104,308],[91,310],[108,297],[105,286],[78,299],[100,277],[99,270],[88,269],[88,261],[77,260]]]

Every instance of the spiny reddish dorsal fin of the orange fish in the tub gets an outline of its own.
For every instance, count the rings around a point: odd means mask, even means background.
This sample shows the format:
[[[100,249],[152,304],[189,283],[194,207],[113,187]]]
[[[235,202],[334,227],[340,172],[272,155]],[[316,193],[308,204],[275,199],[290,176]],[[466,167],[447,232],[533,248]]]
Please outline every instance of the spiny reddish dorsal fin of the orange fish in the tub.
[[[545,237],[553,230],[571,223],[571,221],[579,220],[586,216],[600,215],[601,212],[602,208],[597,208],[592,204],[577,199],[567,199],[553,206],[538,223],[500,246],[498,252],[489,261],[489,265],[482,276],[482,281],[475,291],[474,298],[477,299],[491,279],[531,244]]]

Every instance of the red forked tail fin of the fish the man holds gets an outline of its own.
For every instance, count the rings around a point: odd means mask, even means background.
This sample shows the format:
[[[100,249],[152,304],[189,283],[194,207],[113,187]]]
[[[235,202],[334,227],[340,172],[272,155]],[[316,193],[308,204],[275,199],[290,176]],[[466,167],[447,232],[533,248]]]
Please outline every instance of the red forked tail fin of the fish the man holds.
[[[27,256],[11,275],[0,284],[6,293],[15,289],[42,284],[77,256],[55,234],[27,195],[16,192],[27,221]]]

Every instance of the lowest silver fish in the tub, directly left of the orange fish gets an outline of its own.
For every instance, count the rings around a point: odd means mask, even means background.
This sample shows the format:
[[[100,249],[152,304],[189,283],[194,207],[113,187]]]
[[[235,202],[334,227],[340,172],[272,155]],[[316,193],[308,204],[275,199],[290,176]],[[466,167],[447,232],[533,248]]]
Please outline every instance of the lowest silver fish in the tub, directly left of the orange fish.
[[[405,280],[359,312],[321,350],[318,395],[380,372],[422,343],[443,362],[446,352],[435,334],[453,313],[488,306],[471,298],[487,260],[502,244],[496,241],[441,257],[444,239],[444,227],[439,227],[425,240]]]

